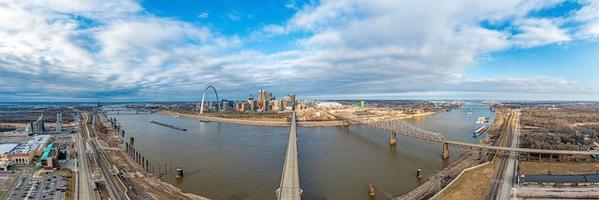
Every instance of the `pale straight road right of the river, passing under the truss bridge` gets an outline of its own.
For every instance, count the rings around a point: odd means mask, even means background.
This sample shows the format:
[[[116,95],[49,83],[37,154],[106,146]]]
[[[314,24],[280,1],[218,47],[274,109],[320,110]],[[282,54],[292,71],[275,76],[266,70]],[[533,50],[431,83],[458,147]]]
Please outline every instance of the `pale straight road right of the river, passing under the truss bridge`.
[[[520,111],[515,111],[515,125],[513,126],[512,140],[510,141],[510,147],[518,147],[520,145]],[[512,127],[510,126],[510,129]],[[501,181],[500,190],[497,196],[497,199],[511,199],[512,198],[512,188],[514,186],[514,182],[517,180],[515,177],[517,175],[517,165],[518,165],[518,155],[517,153],[511,152],[509,156],[507,156],[506,164],[503,171],[503,180]]]

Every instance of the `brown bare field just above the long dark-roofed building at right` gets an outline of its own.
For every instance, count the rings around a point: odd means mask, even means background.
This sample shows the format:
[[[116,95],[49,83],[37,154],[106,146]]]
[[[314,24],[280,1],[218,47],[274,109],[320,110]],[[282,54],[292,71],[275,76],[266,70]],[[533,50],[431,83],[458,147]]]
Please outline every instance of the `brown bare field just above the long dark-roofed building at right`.
[[[599,163],[520,162],[521,174],[585,174],[597,173]]]

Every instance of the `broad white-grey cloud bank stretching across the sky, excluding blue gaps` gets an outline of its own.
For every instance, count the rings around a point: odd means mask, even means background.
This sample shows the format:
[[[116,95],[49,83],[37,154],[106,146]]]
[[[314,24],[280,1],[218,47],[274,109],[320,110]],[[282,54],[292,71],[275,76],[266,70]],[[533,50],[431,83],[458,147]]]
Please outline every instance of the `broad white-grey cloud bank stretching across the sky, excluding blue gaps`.
[[[302,35],[293,38],[296,46],[269,53],[244,46],[247,38],[147,14],[136,1],[2,2],[0,73],[14,76],[0,79],[0,96],[190,99],[207,84],[231,95],[255,87],[307,95],[589,89],[551,77],[464,76],[493,52],[576,39],[562,27],[568,19],[528,15],[559,1],[325,0],[301,8],[293,2],[298,11],[287,22],[248,36],[268,42]],[[599,16],[596,4],[585,5],[575,18],[592,35]],[[513,23],[517,33],[482,21]]]

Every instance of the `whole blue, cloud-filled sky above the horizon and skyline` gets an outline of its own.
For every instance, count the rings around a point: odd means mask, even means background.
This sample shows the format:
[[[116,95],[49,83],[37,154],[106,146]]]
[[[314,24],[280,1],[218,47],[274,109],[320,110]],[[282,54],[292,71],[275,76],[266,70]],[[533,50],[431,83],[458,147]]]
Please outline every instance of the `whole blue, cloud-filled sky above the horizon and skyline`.
[[[599,1],[0,0],[0,102],[599,100]]]

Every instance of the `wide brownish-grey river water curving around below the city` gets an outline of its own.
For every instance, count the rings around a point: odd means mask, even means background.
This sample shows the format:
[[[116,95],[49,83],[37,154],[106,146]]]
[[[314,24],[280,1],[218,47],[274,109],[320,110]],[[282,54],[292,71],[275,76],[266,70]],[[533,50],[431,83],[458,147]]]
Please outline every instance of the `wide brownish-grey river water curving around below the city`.
[[[466,115],[472,112],[472,115]],[[477,142],[472,132],[479,116],[494,113],[488,106],[465,105],[422,119],[417,126],[444,133],[447,138]],[[126,136],[135,137],[135,148],[150,161],[184,169],[185,177],[172,172],[163,180],[185,192],[211,199],[274,199],[279,185],[289,129],[259,127],[163,114],[110,115],[121,123]],[[149,123],[155,120],[187,131]],[[482,137],[481,137],[482,138]],[[427,177],[452,162],[463,151],[450,149],[441,159],[440,144],[399,137],[395,147],[389,135],[365,126],[298,128],[300,183],[304,199],[368,199],[367,186],[375,184],[393,194],[403,194],[422,183],[416,169]],[[158,164],[155,164],[158,170]],[[378,194],[381,195],[381,194]]]

